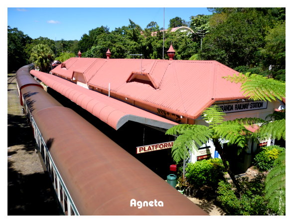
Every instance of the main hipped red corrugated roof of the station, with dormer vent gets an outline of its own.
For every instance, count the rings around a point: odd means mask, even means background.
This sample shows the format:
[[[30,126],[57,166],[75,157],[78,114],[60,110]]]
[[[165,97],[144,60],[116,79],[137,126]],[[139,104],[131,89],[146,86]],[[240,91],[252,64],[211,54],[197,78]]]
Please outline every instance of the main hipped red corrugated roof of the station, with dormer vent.
[[[83,72],[88,84],[108,89],[150,106],[188,118],[197,118],[217,100],[243,98],[240,83],[222,76],[238,72],[216,61],[169,61],[141,59],[71,58],[67,72]],[[67,67],[67,63],[74,65]],[[63,68],[64,69],[64,68]],[[127,82],[133,73],[146,73],[153,86],[143,81]],[[55,74],[63,70],[55,68]],[[69,72],[70,73],[70,72]],[[65,72],[63,72],[65,74]]]

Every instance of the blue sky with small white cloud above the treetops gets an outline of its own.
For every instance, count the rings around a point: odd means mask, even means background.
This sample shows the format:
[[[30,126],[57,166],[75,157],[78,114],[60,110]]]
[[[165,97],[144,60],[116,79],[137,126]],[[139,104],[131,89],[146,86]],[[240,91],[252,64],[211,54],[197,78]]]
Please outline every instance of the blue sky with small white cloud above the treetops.
[[[110,31],[129,25],[129,19],[143,29],[150,21],[163,27],[163,7],[8,7],[7,25],[18,28],[31,38],[80,40],[84,33],[100,26]],[[206,7],[165,7],[165,28],[176,16],[189,21],[190,16],[211,14]]]

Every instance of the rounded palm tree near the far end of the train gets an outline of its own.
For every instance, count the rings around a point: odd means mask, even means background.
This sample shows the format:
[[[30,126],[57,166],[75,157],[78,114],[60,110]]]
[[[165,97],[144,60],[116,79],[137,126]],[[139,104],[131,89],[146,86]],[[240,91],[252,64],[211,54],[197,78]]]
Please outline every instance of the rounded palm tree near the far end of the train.
[[[48,45],[38,44],[31,50],[29,60],[39,68],[41,72],[48,72],[54,59],[54,54]]]

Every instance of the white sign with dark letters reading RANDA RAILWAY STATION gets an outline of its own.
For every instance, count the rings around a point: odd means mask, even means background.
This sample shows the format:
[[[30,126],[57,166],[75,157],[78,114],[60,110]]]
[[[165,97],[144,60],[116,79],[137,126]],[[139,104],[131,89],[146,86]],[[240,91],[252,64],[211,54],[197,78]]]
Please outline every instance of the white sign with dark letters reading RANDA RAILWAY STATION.
[[[268,102],[267,101],[244,101],[244,102],[236,102],[236,103],[217,104],[217,106],[219,106],[223,112],[231,113],[231,112],[266,109],[268,106]]]

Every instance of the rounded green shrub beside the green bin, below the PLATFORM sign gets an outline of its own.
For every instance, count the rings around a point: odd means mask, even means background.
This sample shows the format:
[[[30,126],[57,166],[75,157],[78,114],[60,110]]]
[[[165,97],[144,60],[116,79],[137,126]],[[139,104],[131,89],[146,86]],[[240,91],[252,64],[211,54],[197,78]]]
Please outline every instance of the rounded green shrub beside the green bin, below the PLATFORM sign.
[[[204,159],[195,163],[188,163],[185,168],[185,177],[188,183],[195,187],[217,185],[221,179],[224,179],[222,159]]]

